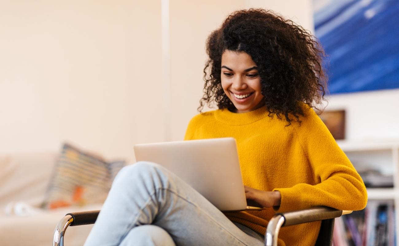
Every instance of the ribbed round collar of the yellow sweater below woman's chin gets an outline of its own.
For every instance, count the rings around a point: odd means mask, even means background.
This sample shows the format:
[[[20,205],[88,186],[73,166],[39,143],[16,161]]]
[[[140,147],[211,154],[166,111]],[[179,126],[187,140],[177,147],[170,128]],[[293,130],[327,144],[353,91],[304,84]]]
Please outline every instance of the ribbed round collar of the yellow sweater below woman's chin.
[[[268,114],[269,112],[267,111],[266,106],[246,113],[233,113],[225,108],[216,110],[215,118],[216,120],[219,120],[225,124],[239,126],[251,124],[255,121],[261,120],[268,116]]]

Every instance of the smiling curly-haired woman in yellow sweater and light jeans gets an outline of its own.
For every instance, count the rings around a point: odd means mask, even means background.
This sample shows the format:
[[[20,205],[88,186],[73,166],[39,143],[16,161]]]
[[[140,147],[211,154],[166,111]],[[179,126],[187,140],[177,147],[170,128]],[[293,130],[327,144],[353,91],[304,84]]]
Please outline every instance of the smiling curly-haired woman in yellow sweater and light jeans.
[[[361,210],[360,176],[313,110],[322,50],[300,26],[261,9],[234,12],[208,38],[204,96],[185,140],[234,137],[247,199],[267,210],[223,214],[154,163],[124,168],[85,245],[264,245],[275,212]],[[279,245],[314,245],[320,222],[282,228]]]

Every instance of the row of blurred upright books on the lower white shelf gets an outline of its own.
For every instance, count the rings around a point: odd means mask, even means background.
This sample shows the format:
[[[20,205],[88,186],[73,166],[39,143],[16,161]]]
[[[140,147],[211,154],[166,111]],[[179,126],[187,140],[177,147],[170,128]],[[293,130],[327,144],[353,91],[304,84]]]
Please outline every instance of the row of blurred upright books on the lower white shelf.
[[[334,246],[395,246],[393,201],[371,200],[367,207],[335,219]]]

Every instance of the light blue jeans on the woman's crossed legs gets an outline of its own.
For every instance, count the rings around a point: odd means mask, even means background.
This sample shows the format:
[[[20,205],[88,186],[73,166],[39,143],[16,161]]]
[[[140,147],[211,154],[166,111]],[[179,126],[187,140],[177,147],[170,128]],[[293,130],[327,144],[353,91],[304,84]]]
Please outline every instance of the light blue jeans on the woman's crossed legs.
[[[239,226],[239,227],[237,227]],[[137,162],[117,174],[85,246],[265,245],[158,164]]]

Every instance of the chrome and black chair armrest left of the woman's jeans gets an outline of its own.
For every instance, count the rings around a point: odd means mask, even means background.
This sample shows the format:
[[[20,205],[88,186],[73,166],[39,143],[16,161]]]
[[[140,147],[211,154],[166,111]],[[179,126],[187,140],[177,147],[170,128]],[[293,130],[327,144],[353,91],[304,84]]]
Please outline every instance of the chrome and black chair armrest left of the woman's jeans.
[[[68,226],[81,226],[94,224],[97,220],[100,210],[74,212],[66,214],[55,227],[53,235],[53,246],[64,245],[64,235]]]

